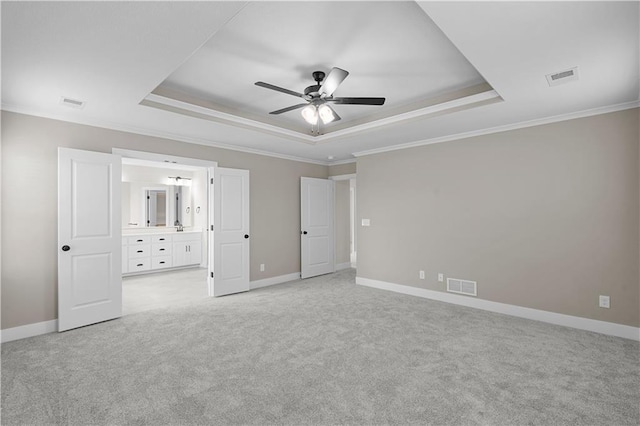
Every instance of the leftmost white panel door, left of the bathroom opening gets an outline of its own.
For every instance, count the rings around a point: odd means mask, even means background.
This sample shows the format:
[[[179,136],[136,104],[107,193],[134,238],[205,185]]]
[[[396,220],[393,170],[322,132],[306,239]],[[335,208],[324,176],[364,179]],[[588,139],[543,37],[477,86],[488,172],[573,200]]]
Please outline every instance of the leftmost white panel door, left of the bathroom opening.
[[[122,315],[121,158],[58,148],[58,331]]]

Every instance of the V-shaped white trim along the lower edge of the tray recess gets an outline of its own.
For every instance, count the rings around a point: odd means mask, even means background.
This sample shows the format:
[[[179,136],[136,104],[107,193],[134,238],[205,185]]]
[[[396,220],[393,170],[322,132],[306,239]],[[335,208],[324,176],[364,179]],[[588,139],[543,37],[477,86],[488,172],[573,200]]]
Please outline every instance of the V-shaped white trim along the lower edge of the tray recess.
[[[209,121],[216,121],[223,124],[229,124],[233,126],[249,128],[257,131],[262,131],[269,134],[276,134],[278,136],[285,136],[289,139],[293,139],[299,142],[304,142],[310,145],[317,145],[320,143],[332,142],[340,137],[353,135],[366,130],[371,130],[381,126],[389,126],[401,121],[412,120],[417,118],[425,118],[433,114],[439,114],[446,111],[455,112],[465,107],[472,107],[474,105],[484,105],[488,101],[501,101],[501,97],[493,89],[486,90],[481,93],[476,93],[470,96],[464,96],[458,99],[453,99],[446,102],[441,102],[435,105],[429,105],[424,108],[419,108],[413,111],[397,114],[391,117],[381,118],[379,120],[363,123],[353,127],[349,127],[342,130],[337,130],[326,135],[320,136],[308,136],[293,130],[284,129],[278,126],[262,123],[259,121],[251,120],[244,117],[239,117],[233,114],[221,112],[212,108],[203,107],[200,105],[194,105],[189,102],[180,101],[166,96],[160,96],[150,93],[147,95],[141,105],[163,109],[178,114],[187,115],[194,118],[205,119]]]

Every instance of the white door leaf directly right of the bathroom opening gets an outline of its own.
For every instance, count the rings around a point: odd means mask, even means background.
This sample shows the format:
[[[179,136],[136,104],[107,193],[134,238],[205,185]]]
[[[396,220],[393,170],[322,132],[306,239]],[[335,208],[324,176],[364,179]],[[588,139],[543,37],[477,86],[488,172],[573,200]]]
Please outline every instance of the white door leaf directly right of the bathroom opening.
[[[249,291],[249,171],[214,168],[213,295]]]

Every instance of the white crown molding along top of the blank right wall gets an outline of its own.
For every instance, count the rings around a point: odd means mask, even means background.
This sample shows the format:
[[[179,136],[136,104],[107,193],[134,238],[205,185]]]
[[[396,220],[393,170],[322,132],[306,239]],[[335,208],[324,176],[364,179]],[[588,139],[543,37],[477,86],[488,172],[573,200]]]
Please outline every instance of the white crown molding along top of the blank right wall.
[[[431,139],[422,139],[419,141],[408,142],[408,143],[403,143],[403,144],[394,145],[394,146],[369,149],[365,151],[354,152],[353,156],[356,158],[365,157],[367,155],[382,154],[384,152],[399,151],[402,149],[416,148],[419,146],[431,145],[435,143],[451,142],[451,141],[467,139],[475,136],[484,136],[484,135],[490,135],[494,133],[508,132],[510,130],[524,129],[527,127],[542,126],[545,124],[575,120],[578,118],[591,117],[594,115],[608,114],[612,112],[624,111],[627,109],[638,108],[638,107],[640,107],[640,100],[626,102],[626,103],[617,104],[617,105],[609,105],[606,107],[593,108],[593,109],[584,110],[584,111],[572,112],[568,114],[555,115],[555,116],[540,118],[536,120],[522,121],[514,124],[506,124],[503,126],[490,127],[487,129],[473,130],[471,132],[457,133],[454,135],[441,136],[441,137],[431,138]]]

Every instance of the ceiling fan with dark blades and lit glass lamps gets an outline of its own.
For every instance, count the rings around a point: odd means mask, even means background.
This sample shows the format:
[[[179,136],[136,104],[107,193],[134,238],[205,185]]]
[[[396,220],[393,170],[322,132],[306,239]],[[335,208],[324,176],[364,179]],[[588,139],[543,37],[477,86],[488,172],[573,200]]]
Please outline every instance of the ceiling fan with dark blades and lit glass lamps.
[[[262,81],[256,82],[256,86],[297,96],[307,101],[307,103],[271,111],[269,114],[277,115],[298,108],[304,108],[302,110],[302,117],[312,126],[318,123],[318,118],[320,118],[324,124],[340,120],[340,116],[331,108],[329,103],[340,105],[384,105],[385,98],[334,98],[333,92],[335,92],[340,83],[342,83],[348,75],[348,71],[334,67],[325,79],[324,72],[314,71],[312,76],[316,84],[304,89],[304,93],[284,89]]]

